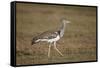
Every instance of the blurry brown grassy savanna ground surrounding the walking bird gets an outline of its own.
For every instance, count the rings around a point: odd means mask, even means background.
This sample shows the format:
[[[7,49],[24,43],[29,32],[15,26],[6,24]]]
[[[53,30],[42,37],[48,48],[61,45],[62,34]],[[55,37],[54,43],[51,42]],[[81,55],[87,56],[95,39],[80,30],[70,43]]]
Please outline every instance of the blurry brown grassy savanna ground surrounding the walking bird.
[[[57,42],[59,53],[48,43],[31,45],[33,37],[59,28],[61,19],[71,21]],[[16,6],[16,64],[46,64],[96,60],[96,7],[56,6],[17,3]]]

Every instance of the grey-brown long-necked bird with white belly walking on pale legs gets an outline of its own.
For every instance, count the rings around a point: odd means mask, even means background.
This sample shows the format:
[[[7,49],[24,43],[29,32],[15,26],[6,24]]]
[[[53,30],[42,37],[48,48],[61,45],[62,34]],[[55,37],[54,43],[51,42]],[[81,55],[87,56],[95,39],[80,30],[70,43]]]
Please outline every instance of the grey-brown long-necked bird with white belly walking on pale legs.
[[[38,42],[43,42],[43,41],[48,42],[49,43],[48,57],[50,57],[51,46],[54,46],[54,49],[61,56],[63,56],[63,54],[58,50],[56,43],[60,38],[62,38],[64,36],[66,24],[70,23],[70,21],[66,20],[66,19],[62,19],[61,22],[62,22],[62,25],[60,26],[60,28],[58,30],[56,30],[56,31],[53,31],[53,30],[52,31],[45,31],[45,32],[33,37],[31,45],[34,45]]]

